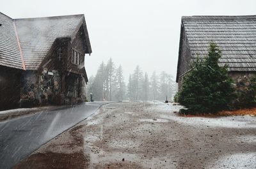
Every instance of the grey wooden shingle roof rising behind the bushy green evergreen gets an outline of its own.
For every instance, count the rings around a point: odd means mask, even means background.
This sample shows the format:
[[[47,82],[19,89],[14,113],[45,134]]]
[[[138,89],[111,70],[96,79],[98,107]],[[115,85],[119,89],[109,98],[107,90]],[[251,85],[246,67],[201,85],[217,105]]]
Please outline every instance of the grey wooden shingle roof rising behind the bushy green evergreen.
[[[220,66],[229,71],[256,71],[256,15],[182,17],[193,58],[208,54],[209,43],[220,46]]]

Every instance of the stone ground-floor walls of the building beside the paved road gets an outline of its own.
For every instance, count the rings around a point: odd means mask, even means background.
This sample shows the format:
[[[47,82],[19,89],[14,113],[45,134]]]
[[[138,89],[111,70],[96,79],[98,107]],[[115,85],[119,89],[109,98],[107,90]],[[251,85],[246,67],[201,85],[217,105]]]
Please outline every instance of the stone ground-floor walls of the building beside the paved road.
[[[68,75],[65,78],[65,93],[61,93],[61,77],[56,70],[24,71],[20,107],[37,105],[63,105],[86,101],[86,82],[81,75]]]

